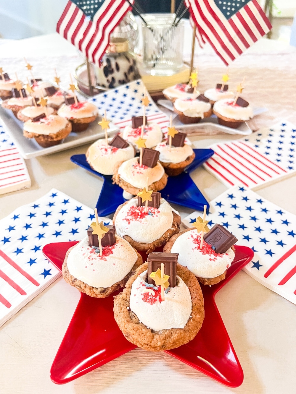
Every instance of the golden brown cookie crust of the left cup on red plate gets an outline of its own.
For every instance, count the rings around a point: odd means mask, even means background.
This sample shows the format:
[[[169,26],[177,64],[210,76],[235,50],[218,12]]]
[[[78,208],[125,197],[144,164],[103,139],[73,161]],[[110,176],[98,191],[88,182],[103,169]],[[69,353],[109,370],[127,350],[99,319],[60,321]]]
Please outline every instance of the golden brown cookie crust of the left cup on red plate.
[[[75,246],[76,245],[72,246],[66,253],[66,257],[65,257],[65,260],[62,265],[62,274],[63,274],[63,277],[67,283],[71,284],[71,286],[73,286],[73,287],[76,287],[80,292],[85,293],[90,297],[106,298],[106,297],[110,296],[110,294],[112,294],[116,290],[119,290],[120,288],[122,288],[126,284],[129,277],[134,273],[135,269],[137,269],[143,263],[142,256],[140,255],[140,253],[138,253],[135,250],[135,252],[137,253],[138,259],[135,262],[135,264],[133,265],[133,268],[131,269],[131,271],[129,271],[129,273],[124,277],[124,279],[122,279],[122,281],[114,283],[114,284],[112,284],[112,286],[106,287],[106,288],[105,287],[93,287],[93,286],[89,286],[85,282],[82,282],[81,280],[75,278],[73,275],[71,275],[69,273],[69,269],[67,267],[67,258],[68,258],[70,251]]]

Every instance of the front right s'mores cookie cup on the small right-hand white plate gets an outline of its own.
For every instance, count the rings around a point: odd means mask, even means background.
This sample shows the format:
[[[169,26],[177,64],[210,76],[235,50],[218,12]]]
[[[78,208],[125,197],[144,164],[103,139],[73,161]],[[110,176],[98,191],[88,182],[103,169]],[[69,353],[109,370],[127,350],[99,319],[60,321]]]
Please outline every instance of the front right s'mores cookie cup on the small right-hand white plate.
[[[236,100],[223,99],[215,102],[213,112],[220,125],[231,128],[239,127],[254,116],[252,107],[241,97]]]

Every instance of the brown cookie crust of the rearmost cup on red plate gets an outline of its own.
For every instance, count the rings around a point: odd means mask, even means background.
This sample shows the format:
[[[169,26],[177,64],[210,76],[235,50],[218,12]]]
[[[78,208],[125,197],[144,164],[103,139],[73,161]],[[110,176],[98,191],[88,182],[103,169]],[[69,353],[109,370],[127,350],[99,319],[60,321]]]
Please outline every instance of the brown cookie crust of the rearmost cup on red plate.
[[[127,203],[128,201],[118,206],[113,216],[113,224],[115,223],[115,218],[118,212]],[[153,242],[150,243],[137,242],[133,240],[133,238],[131,238],[129,235],[124,235],[122,238],[124,238],[128,243],[130,243],[134,249],[142,252],[146,252],[146,254],[148,255],[149,253],[153,252],[157,247],[163,246],[173,234],[177,234],[180,231],[179,226],[181,224],[181,217],[177,215],[174,211],[172,211],[172,214],[173,214],[173,221],[171,227],[160,238],[158,238]]]

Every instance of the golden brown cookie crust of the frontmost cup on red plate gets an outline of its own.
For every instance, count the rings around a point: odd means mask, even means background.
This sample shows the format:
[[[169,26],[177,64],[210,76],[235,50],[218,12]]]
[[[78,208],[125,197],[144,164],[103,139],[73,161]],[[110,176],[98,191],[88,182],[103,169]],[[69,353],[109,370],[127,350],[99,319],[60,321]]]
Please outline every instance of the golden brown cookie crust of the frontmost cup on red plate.
[[[114,318],[126,339],[139,348],[163,351],[178,348],[191,341],[200,330],[204,320],[204,298],[199,282],[189,269],[178,264],[177,274],[187,285],[192,301],[191,317],[184,328],[154,331],[139,322],[129,308],[131,286],[137,276],[146,271],[148,263],[142,264],[126,283],[123,292],[114,297]]]

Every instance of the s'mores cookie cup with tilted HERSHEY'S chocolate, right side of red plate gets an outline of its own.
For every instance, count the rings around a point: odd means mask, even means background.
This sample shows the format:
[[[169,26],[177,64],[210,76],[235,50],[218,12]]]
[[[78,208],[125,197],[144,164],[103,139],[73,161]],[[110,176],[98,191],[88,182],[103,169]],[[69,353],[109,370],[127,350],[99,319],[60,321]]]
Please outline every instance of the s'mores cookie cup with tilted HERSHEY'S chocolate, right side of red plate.
[[[225,279],[226,271],[235,256],[233,247],[237,239],[221,225],[215,225],[201,236],[196,229],[187,229],[173,235],[164,246],[167,253],[179,253],[179,264],[187,267],[204,285],[216,284]]]

